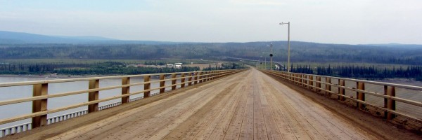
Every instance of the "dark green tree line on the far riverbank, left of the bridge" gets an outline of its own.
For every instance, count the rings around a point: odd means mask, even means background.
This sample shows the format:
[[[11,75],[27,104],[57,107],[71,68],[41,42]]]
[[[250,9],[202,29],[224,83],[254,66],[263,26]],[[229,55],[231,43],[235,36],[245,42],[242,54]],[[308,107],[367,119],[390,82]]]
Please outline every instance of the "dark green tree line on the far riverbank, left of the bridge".
[[[182,66],[181,69],[158,67],[127,66],[124,62],[96,62],[93,64],[0,64],[0,74],[49,74],[59,73],[65,75],[87,74],[143,74],[143,73],[171,73],[182,71],[199,71],[198,66]]]

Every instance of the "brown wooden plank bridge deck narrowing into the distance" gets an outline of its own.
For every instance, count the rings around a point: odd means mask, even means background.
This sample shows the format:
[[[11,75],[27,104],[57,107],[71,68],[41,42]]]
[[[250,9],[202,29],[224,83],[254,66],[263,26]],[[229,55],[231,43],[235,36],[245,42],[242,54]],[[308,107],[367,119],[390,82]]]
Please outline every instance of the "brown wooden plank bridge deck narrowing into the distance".
[[[23,132],[14,137],[376,139],[349,120],[255,69],[189,88]]]

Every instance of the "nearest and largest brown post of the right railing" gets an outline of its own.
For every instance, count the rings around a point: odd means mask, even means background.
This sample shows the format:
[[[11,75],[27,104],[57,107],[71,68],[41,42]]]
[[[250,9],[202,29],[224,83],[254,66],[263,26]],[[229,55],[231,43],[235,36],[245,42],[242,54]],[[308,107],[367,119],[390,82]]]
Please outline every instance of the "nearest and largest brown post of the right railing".
[[[395,97],[395,87],[384,85],[384,95]],[[396,110],[395,100],[384,98],[384,108],[395,111]],[[384,111],[384,116],[387,120],[392,120],[393,118],[396,117],[395,114],[392,114],[387,111]]]

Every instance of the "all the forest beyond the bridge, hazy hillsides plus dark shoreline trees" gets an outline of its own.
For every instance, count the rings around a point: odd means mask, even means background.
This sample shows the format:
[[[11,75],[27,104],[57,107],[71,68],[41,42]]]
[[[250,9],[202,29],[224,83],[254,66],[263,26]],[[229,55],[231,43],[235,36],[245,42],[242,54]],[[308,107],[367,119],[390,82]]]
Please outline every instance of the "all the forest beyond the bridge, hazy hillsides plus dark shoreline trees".
[[[219,59],[236,57],[264,60],[270,54],[270,42],[249,43],[110,43],[0,44],[0,73],[66,73],[66,74],[135,74],[195,71],[198,68],[155,69],[127,67],[119,59],[143,59],[143,64],[163,65],[157,59]],[[274,62],[287,61],[287,42],[274,41]],[[296,66],[292,71],[350,78],[416,78],[421,80],[422,45],[344,45],[293,41],[290,60],[301,64],[342,64],[342,66]],[[110,59],[115,62],[96,64],[1,64],[8,59]],[[267,56],[267,60],[269,57]],[[232,61],[234,62],[234,60]],[[188,62],[184,62],[187,64]],[[347,64],[399,64],[403,67],[379,67]],[[224,69],[237,69],[239,64],[226,64]],[[205,70],[222,69],[209,66]]]

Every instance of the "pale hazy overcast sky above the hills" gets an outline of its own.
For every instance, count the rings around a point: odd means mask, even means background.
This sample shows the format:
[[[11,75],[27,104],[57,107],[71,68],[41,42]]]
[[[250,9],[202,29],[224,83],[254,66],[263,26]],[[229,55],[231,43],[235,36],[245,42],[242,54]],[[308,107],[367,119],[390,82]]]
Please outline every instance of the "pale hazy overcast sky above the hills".
[[[422,44],[421,0],[0,0],[0,30],[124,40]]]

